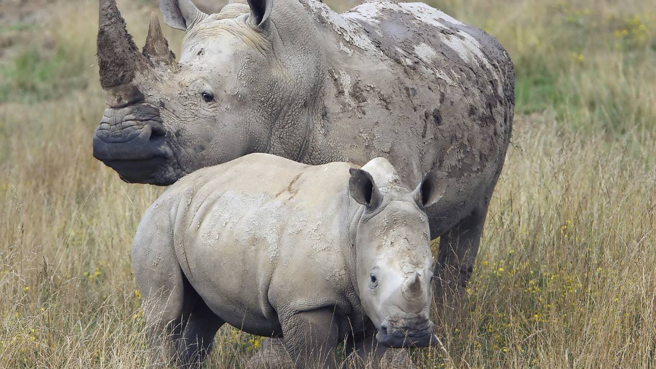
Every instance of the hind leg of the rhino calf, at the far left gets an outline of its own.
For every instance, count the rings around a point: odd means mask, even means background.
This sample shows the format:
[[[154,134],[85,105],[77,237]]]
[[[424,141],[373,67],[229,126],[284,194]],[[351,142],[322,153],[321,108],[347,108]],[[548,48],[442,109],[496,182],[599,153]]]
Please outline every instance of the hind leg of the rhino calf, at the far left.
[[[144,296],[144,317],[155,363],[200,367],[223,321],[184,276],[173,248],[168,217],[140,227],[134,238],[134,279]]]

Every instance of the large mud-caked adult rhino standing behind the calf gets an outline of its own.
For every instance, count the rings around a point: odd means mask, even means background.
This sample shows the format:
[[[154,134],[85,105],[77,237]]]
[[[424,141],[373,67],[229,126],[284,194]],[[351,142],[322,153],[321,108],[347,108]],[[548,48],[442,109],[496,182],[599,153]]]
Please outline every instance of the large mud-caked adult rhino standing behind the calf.
[[[387,158],[405,185],[447,177],[427,209],[440,238],[436,296],[461,291],[510,140],[512,62],[496,39],[422,3],[337,14],[317,0],[249,0],[218,14],[160,0],[184,30],[176,62],[151,18],[142,53],[115,0],[100,1],[110,106],[94,156],[124,181],[170,185],[252,152],[358,165]],[[449,288],[445,288],[448,286]],[[455,295],[459,295],[456,293]]]

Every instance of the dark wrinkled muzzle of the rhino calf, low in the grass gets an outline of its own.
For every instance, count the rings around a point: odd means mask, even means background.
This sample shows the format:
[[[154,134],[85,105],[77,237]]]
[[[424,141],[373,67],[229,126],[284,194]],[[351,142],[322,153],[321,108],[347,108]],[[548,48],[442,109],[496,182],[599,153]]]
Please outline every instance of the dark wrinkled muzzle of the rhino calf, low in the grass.
[[[419,324],[413,320],[391,320],[386,318],[380,324],[376,339],[386,347],[428,347],[438,343],[434,324],[426,319]]]

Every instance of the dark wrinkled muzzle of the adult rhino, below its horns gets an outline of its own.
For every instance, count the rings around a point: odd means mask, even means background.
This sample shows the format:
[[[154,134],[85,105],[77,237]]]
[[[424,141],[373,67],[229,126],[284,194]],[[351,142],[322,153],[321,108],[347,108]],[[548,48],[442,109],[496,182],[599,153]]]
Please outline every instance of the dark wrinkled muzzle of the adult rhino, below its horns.
[[[93,156],[128,183],[170,185],[173,152],[159,109],[140,103],[108,108],[93,138]]]

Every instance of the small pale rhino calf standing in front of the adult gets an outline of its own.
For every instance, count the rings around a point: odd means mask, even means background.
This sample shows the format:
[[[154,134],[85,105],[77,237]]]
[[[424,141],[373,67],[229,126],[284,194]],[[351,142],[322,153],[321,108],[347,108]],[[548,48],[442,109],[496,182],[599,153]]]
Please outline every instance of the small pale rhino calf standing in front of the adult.
[[[134,240],[154,347],[195,366],[228,323],[283,337],[297,368],[317,368],[335,366],[344,339],[346,355],[378,359],[435,343],[424,209],[438,177],[411,190],[383,158],[357,169],[250,154],[180,179]]]

